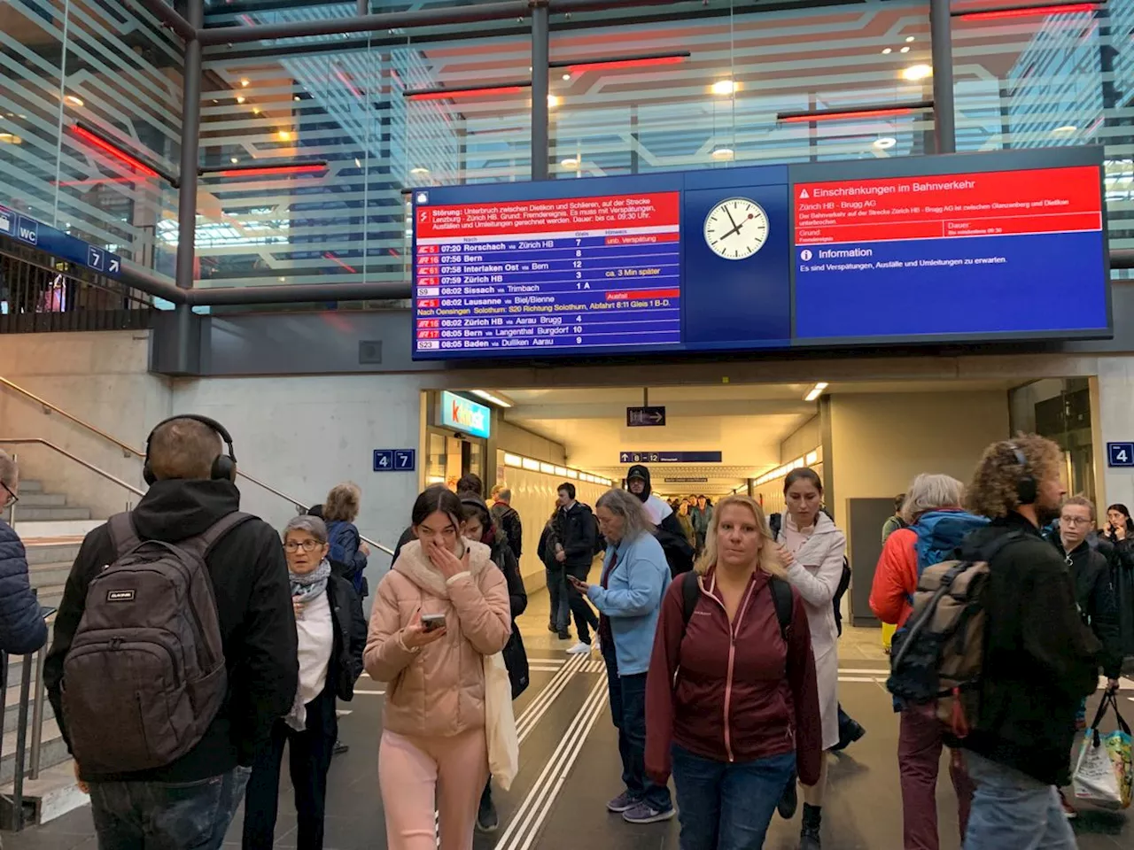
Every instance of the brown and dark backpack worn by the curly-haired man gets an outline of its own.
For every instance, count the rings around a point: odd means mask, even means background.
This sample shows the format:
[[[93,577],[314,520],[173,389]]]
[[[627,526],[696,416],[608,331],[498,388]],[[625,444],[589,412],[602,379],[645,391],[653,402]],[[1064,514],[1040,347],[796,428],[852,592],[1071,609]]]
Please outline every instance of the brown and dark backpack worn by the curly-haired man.
[[[979,560],[925,568],[913,613],[894,635],[887,689],[902,703],[936,704],[937,719],[958,739],[980,716],[989,562],[1016,539],[1023,535],[1004,534],[984,546]]]

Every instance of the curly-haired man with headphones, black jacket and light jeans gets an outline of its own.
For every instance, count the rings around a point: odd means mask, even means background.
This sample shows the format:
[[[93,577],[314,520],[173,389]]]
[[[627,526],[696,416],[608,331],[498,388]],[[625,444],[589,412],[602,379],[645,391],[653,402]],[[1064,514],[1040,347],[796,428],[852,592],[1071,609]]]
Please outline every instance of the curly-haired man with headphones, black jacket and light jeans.
[[[1060,469],[1050,440],[993,443],[965,494],[991,522],[965,538],[962,556],[992,553],[978,716],[959,740],[976,783],[966,850],[1076,845],[1058,787],[1070,781],[1075,711],[1095,690],[1101,646],[1083,624],[1064,559],[1041,536],[1063,504]]]

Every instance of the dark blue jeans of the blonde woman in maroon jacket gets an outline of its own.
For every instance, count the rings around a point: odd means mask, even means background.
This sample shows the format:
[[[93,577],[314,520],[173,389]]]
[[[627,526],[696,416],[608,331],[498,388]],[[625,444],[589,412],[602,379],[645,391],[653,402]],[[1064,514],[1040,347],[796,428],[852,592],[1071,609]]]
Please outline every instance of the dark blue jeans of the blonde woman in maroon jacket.
[[[717,762],[674,745],[680,850],[760,850],[795,753],[754,762]]]

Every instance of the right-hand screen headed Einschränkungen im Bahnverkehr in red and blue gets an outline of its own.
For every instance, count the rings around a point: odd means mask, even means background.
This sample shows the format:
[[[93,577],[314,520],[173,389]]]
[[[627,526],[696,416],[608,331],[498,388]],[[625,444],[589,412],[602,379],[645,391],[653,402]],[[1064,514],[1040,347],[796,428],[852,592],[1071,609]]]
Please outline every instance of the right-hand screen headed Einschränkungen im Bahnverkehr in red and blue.
[[[1106,330],[1097,165],[798,182],[797,343]]]

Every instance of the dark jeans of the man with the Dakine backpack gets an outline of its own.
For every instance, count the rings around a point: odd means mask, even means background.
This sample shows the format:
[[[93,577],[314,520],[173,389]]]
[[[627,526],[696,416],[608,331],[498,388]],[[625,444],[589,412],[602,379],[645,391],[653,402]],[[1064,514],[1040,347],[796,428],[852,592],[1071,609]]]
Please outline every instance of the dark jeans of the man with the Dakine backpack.
[[[252,773],[197,782],[92,782],[99,850],[219,850]]]

